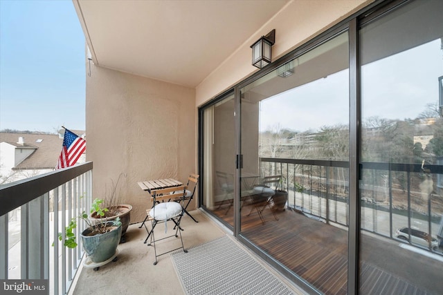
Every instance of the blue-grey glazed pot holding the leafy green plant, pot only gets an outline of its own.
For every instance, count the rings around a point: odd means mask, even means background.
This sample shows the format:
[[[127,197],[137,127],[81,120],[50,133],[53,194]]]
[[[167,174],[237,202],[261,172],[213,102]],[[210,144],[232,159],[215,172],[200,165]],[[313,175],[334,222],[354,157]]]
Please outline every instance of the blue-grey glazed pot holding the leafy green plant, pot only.
[[[112,222],[108,222],[109,225]],[[91,229],[85,229],[80,235],[83,249],[93,263],[102,263],[111,258],[117,250],[122,236],[122,227],[113,227],[105,234],[93,234]]]

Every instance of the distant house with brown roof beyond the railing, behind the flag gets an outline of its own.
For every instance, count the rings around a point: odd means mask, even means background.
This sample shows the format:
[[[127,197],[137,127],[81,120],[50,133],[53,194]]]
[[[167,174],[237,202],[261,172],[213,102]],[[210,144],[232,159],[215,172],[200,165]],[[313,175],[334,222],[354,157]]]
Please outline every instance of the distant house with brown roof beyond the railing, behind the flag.
[[[84,136],[84,131],[73,132]],[[62,134],[0,133],[0,184],[53,171],[62,144]]]

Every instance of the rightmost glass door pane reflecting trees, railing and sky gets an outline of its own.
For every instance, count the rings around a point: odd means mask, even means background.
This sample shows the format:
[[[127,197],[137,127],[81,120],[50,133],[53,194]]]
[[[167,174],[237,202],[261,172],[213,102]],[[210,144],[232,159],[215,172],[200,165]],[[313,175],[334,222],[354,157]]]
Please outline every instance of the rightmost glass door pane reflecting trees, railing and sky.
[[[361,294],[442,294],[442,11],[361,28]]]

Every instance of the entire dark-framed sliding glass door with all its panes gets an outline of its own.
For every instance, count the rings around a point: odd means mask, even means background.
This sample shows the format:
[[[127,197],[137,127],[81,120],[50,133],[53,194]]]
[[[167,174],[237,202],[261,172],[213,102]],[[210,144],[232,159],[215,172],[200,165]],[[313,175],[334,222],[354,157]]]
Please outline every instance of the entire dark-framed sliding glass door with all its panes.
[[[442,292],[442,11],[379,3],[200,109],[202,206],[309,292]]]

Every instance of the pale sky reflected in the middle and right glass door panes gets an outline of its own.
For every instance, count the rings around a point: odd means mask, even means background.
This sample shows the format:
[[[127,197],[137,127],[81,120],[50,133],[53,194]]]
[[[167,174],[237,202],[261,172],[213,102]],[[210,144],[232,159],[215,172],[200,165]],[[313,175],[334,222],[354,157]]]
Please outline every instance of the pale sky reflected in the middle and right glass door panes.
[[[438,104],[442,57],[439,38],[363,66],[363,122],[370,117],[415,119],[428,109],[428,104]],[[260,130],[280,126],[300,132],[318,131],[322,126],[349,124],[348,75],[343,70],[264,100]]]

